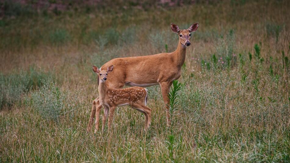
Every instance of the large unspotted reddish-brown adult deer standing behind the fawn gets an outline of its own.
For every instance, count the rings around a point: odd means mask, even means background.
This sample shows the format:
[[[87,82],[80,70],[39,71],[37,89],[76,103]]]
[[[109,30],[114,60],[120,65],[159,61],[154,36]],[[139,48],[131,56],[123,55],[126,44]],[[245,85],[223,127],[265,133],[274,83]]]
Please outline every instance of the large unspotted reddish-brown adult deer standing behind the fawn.
[[[172,53],[159,53],[149,56],[136,56],[115,58],[105,63],[100,70],[105,70],[114,65],[114,72],[109,74],[107,86],[110,88],[123,88],[124,85],[148,87],[160,85],[162,97],[165,102],[165,112],[167,125],[170,126],[169,118],[169,98],[168,93],[173,80],[181,75],[181,67],[185,61],[186,48],[190,45],[191,32],[198,29],[198,22],[192,24],[188,29],[180,30],[176,24],[171,23],[171,30],[178,34],[179,42],[177,49]],[[99,79],[98,79],[99,82]],[[95,132],[99,129],[99,115],[102,105],[99,99],[93,101],[89,124],[89,132],[93,118],[96,113]]]

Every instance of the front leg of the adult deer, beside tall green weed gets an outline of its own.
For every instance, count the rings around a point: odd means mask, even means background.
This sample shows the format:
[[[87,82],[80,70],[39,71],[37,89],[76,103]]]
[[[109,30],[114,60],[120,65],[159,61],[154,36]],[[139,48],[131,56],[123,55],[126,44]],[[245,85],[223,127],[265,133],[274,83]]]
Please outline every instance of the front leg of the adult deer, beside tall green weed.
[[[170,115],[169,115],[169,97],[168,97],[168,93],[169,93],[169,88],[171,86],[170,82],[162,82],[159,83],[161,86],[161,92],[162,92],[162,97],[165,103],[165,113],[166,113],[166,122],[167,122],[167,126],[171,125],[171,120],[170,120]]]

